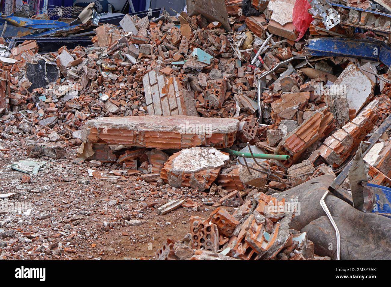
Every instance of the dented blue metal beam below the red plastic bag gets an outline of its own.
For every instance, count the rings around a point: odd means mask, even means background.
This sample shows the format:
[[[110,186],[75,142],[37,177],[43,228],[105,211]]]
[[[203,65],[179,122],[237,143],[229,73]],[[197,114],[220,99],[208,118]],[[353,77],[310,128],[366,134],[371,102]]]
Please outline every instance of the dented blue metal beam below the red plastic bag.
[[[373,39],[316,38],[308,40],[304,55],[319,57],[353,57],[380,61],[391,66],[391,47]]]

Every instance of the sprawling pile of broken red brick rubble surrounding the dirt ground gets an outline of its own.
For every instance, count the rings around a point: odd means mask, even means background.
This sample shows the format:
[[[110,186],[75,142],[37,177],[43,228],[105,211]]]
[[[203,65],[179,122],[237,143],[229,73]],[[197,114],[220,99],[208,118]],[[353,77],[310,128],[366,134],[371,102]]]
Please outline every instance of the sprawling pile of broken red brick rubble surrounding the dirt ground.
[[[391,7],[225,0],[212,15],[212,4],[188,2],[177,16],[100,23],[88,46],[40,53],[37,39],[9,49],[0,38],[0,137],[24,137],[33,158],[88,164],[97,180],[136,176],[136,191],[153,185],[147,201],[138,194],[142,208],[159,215],[197,209],[196,197],[217,207],[192,217],[182,241],[167,239],[158,259],[323,258],[307,233],[289,229],[295,212],[271,194],[344,174],[363,143],[372,145],[362,181],[391,184],[382,128]],[[67,33],[78,36],[86,23]],[[44,165],[11,168],[36,174]],[[351,203],[351,182],[342,182]],[[206,198],[214,194],[219,202]]]

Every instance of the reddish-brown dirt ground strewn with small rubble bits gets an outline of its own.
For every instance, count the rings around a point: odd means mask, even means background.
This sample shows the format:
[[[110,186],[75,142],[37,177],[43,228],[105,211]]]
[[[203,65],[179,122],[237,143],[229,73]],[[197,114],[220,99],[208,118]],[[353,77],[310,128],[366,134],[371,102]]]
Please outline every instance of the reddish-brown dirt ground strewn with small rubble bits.
[[[0,194],[16,193],[0,199],[0,234],[14,231],[0,235],[0,259],[152,259],[167,238],[180,240],[190,232],[190,216],[208,217],[211,204],[220,198],[170,187],[152,196],[156,183],[138,176],[117,183],[88,176],[88,168],[107,173],[110,167],[72,163],[75,148],[67,148],[65,159],[33,159],[27,143],[18,135],[0,139]],[[47,167],[37,175],[10,168],[26,159],[45,160]],[[22,183],[24,175],[31,177],[30,183]],[[149,207],[185,197],[198,203],[197,210],[179,207],[160,216]],[[29,215],[13,210],[20,202],[30,204]],[[129,225],[132,219],[142,225]]]

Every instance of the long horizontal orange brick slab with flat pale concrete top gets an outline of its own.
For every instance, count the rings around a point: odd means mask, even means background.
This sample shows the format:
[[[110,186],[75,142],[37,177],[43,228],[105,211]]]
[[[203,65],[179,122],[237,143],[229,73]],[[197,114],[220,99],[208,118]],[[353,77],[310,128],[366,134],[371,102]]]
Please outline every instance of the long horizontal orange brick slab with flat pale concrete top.
[[[158,150],[194,146],[228,148],[235,141],[239,121],[191,116],[106,117],[88,121],[82,139],[88,143],[143,146]]]

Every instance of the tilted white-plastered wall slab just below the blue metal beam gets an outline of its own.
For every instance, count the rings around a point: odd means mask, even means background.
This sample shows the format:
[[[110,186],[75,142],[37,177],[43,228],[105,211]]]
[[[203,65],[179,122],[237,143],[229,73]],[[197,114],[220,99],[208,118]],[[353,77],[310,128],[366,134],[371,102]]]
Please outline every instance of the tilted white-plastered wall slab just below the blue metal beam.
[[[349,109],[354,109],[357,114],[373,98],[374,88],[375,84],[359,68],[350,62],[337,80],[335,80],[333,86],[330,87],[328,93],[332,98],[346,99]],[[339,105],[338,99],[333,102],[336,106]],[[346,112],[346,109],[343,108],[331,107],[331,111],[333,112],[334,109],[337,112]],[[346,118],[348,117],[345,115],[344,119],[346,120]]]

